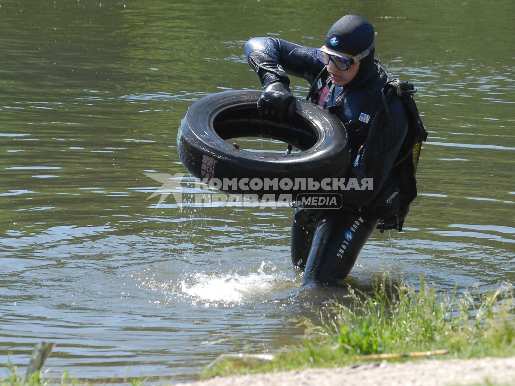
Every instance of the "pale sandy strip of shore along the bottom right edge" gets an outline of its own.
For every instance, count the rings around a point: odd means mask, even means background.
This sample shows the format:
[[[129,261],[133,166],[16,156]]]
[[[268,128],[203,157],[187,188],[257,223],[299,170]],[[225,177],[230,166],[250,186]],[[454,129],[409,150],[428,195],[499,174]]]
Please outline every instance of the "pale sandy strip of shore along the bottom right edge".
[[[441,386],[468,385],[485,382],[486,379],[515,385],[515,357],[469,360],[424,359],[403,363],[373,362],[338,369],[215,377],[188,383],[188,386]]]

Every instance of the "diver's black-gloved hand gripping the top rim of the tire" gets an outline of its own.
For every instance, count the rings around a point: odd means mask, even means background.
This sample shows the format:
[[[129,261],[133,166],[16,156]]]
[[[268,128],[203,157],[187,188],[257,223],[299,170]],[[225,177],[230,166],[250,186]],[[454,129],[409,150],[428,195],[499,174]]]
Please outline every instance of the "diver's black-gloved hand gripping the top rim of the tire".
[[[295,115],[297,101],[285,82],[270,83],[258,100],[260,114]]]

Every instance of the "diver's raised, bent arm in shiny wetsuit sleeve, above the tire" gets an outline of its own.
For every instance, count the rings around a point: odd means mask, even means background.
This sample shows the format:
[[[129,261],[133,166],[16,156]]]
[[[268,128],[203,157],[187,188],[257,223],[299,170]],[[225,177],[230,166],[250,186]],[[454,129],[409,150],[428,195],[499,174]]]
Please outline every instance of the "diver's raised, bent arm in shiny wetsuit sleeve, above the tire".
[[[288,75],[304,78],[311,84],[323,68],[316,48],[277,38],[250,39],[245,44],[245,55],[264,87],[278,81],[289,84]]]

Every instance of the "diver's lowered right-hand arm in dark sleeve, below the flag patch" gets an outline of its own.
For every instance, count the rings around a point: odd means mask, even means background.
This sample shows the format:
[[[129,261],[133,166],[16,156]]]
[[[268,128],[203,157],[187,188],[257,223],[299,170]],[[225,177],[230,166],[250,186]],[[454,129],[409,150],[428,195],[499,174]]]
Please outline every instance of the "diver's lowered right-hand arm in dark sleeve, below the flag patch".
[[[365,167],[365,178],[371,178],[373,189],[349,189],[343,192],[345,206],[364,206],[377,195],[397,159],[404,138],[408,132],[408,120],[403,102],[393,97],[388,103],[389,116],[384,116],[383,124],[374,139]],[[361,185],[361,181],[359,181]]]

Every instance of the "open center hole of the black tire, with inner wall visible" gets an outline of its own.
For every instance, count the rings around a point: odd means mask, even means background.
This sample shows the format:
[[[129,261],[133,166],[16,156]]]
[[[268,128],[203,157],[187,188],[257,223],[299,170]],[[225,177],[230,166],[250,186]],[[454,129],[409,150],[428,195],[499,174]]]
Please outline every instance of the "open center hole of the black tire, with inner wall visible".
[[[315,146],[319,139],[314,125],[300,115],[282,119],[277,115],[260,115],[254,104],[221,111],[213,120],[213,129],[224,141],[237,142],[241,149],[250,151],[265,152],[260,147],[271,146],[271,152],[275,153],[279,145],[277,141],[305,151]],[[242,143],[229,141],[234,138],[242,138]],[[266,141],[265,138],[274,141]],[[282,149],[284,151],[286,147]]]

